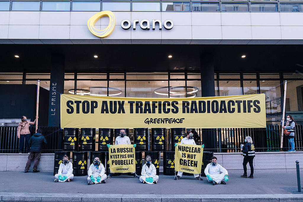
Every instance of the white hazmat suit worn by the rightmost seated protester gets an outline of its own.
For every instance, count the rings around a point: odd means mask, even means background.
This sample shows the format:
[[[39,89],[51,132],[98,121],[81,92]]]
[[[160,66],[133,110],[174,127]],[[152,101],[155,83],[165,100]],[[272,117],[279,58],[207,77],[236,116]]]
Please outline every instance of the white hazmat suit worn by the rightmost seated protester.
[[[221,181],[225,181],[224,176],[228,175],[228,172],[224,167],[222,167],[220,164],[216,164],[215,166],[213,166],[212,163],[210,163],[206,166],[204,173],[205,173],[205,175],[210,175],[212,180],[214,180],[218,184],[220,184]],[[206,179],[207,179],[207,177],[206,177]]]

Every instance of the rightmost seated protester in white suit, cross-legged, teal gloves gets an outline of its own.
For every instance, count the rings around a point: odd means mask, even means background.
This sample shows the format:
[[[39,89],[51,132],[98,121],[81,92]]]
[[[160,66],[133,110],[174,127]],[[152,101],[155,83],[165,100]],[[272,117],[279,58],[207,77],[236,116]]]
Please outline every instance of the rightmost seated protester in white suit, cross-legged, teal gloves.
[[[211,157],[211,163],[204,170],[208,182],[215,184],[226,184],[228,181],[228,172],[220,164],[217,164],[217,157]]]

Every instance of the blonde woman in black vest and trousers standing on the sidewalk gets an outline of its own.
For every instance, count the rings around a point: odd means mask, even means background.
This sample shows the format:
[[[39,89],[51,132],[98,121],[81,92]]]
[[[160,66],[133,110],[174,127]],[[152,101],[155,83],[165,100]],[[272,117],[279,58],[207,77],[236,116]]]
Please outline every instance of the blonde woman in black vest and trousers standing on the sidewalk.
[[[241,151],[243,152],[243,170],[244,174],[240,177],[247,178],[247,163],[249,163],[250,166],[250,175],[248,176],[251,179],[254,179],[254,157],[255,157],[255,145],[252,143],[251,137],[247,136],[245,137],[245,145],[241,148]]]

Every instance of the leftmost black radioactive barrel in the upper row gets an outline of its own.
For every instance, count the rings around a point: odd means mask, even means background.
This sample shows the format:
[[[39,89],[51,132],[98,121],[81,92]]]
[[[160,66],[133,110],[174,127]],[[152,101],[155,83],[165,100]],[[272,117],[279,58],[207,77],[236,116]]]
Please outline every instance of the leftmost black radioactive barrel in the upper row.
[[[63,151],[78,151],[79,128],[64,128]]]

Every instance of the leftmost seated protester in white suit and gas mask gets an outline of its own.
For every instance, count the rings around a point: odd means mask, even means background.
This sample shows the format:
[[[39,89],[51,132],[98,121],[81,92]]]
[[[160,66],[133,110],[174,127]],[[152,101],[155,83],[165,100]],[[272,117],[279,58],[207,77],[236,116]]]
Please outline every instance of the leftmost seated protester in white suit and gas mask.
[[[58,174],[55,174],[55,182],[70,182],[73,178],[73,164],[69,162],[69,157],[64,156],[59,166]]]

